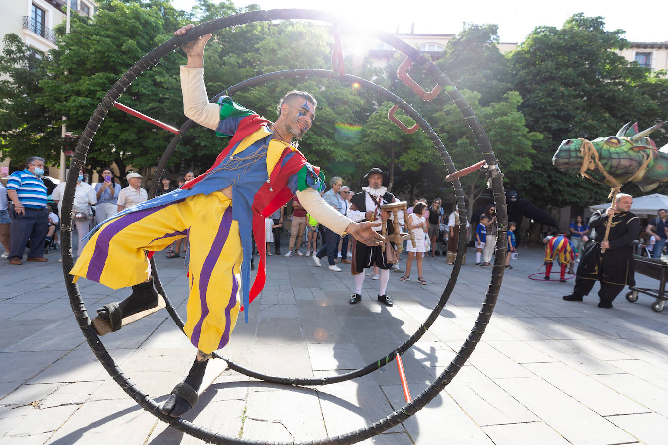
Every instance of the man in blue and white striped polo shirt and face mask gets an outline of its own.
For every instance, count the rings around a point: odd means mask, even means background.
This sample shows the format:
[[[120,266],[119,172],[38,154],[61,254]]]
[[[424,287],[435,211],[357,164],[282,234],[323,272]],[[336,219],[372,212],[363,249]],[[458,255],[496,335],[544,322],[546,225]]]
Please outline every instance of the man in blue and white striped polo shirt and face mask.
[[[28,261],[48,261],[43,258],[44,240],[49,229],[49,211],[46,207],[46,185],[41,180],[44,174],[44,159],[37,156],[25,161],[27,167],[15,171],[7,181],[7,195],[14,204],[9,226],[9,262],[23,264],[23,251],[30,240]]]

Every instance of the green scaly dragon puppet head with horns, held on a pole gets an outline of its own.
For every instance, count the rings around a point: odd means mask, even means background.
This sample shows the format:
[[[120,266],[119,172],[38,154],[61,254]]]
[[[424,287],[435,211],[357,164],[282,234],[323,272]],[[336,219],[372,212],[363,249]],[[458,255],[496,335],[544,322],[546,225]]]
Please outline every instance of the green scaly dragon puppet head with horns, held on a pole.
[[[630,180],[642,191],[653,190],[668,181],[668,144],[657,149],[647,136],[665,123],[668,121],[638,131],[638,123],[629,122],[614,136],[593,141],[566,139],[556,149],[552,163],[564,173],[580,173],[611,187]]]

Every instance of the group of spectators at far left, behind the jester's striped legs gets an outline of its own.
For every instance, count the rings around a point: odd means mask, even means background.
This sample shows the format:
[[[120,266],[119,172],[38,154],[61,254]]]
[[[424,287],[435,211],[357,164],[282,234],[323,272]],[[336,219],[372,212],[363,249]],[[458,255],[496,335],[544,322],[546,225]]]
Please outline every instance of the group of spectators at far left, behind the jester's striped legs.
[[[7,179],[7,187],[0,183],[0,244],[5,252],[2,258],[10,264],[23,264],[25,249],[29,248],[27,261],[46,262],[44,253],[58,246],[58,230],[65,193],[65,182],[53,184],[45,175],[45,161],[41,157],[29,157],[25,169],[15,171]],[[72,219],[77,231],[76,256],[86,245],[86,235],[96,226],[119,211],[148,199],[148,191],[142,187],[139,173],[126,175],[128,186],[121,188],[111,167],[100,169],[100,181],[90,184],[90,173],[81,169],[75,187]],[[192,171],[178,177],[178,187],[194,179]],[[156,189],[156,195],[176,189],[170,177],[165,176]],[[178,240],[167,251],[167,258],[178,258],[187,238]],[[59,262],[61,260],[58,260]]]

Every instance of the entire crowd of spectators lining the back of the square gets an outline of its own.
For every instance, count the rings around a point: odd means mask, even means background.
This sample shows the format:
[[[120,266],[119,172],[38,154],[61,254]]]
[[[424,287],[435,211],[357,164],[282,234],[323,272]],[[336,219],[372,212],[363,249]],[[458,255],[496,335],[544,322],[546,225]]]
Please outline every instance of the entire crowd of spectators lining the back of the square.
[[[41,157],[29,157],[25,169],[13,173],[7,182],[7,187],[0,183],[0,244],[5,252],[2,258],[7,258],[11,264],[19,265],[23,262],[25,249],[29,248],[28,261],[45,262],[43,252],[49,246],[57,246],[57,228],[61,217],[61,205],[65,183],[55,186],[51,181],[45,180],[44,160]],[[111,167],[104,167],[99,171],[100,181],[90,185],[90,175],[81,170],[75,188],[73,202],[73,222],[76,227],[79,242],[76,254],[81,253],[85,245],[85,236],[90,230],[102,221],[108,219],[118,211],[122,211],[148,199],[148,192],[142,187],[143,177],[139,173],[130,172],[126,175],[128,186],[122,188],[114,175]],[[183,176],[178,177],[176,184],[168,176],[162,177],[156,196],[169,193],[181,187],[186,181],[194,179],[192,171],[186,171]],[[88,181],[87,181],[88,179]],[[331,178],[330,188],[321,193],[327,203],[332,205],[342,214],[346,214],[351,206],[351,197],[355,195],[347,185],[343,185],[343,179],[338,176]],[[55,189],[53,188],[55,187]],[[51,189],[51,190],[50,190]],[[422,259],[424,256],[438,258],[438,255],[446,251],[438,250],[438,241],[448,243],[446,262],[454,264],[458,247],[458,231],[460,218],[458,208],[448,215],[444,211],[443,201],[436,197],[427,204],[425,198],[414,199],[413,205],[407,209],[407,219],[402,231],[413,232],[416,247],[411,242],[404,244],[407,251],[405,275],[401,281],[410,280],[410,272],[413,260],[418,269],[418,282],[426,284],[422,276]],[[57,206],[50,209],[49,205]],[[284,211],[291,211],[291,215],[284,215]],[[476,212],[474,212],[476,213]],[[641,239],[638,244],[653,258],[659,258],[663,253],[668,240],[668,212],[659,209],[658,215],[649,221],[645,234],[647,238]],[[289,230],[284,230],[284,216],[289,225]],[[487,205],[478,217],[472,220],[480,220],[473,236],[475,238],[476,264],[479,266],[492,266],[492,256],[496,246],[496,206]],[[469,221],[466,221],[466,238],[469,238]],[[510,266],[512,252],[516,252],[515,230],[516,224],[508,227],[508,255],[506,268]],[[307,256],[312,256],[316,264],[327,256],[329,270],[340,272],[337,264],[350,264],[351,243],[349,236],[341,236],[327,231],[318,221],[309,215],[299,203],[297,197],[293,198],[289,205],[278,209],[271,217],[267,218],[267,252],[271,254],[270,244],[274,244],[274,254],[281,253],[281,238],[284,232],[289,232],[289,241],[285,257],[303,256],[301,248],[305,246]],[[575,252],[582,252],[585,244],[589,241],[589,226],[581,215],[577,215],[568,228],[568,238]],[[182,252],[187,251],[187,238],[177,240],[166,251],[166,258],[180,258]],[[466,262],[466,256],[464,256]],[[395,264],[397,272],[403,272],[399,264]],[[377,279],[378,271],[369,272],[369,275]],[[374,276],[375,275],[375,276]]]

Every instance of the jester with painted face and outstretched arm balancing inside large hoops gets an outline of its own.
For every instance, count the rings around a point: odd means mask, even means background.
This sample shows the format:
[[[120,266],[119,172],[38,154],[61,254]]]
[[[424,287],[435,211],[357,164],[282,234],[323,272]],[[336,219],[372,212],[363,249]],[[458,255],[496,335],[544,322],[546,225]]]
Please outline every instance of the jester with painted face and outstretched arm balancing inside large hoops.
[[[174,33],[184,35],[193,25]],[[271,123],[229,97],[209,103],[204,88],[204,45],[211,34],[182,45],[188,63],[181,67],[184,113],[218,135],[232,135],[214,165],[180,189],[130,207],[103,221],[71,274],[110,288],[132,286],[132,295],[98,310],[92,326],[103,335],[120,329],[130,316],[158,306],[160,296],[150,275],[147,252],[174,240],[190,238],[190,294],[184,327],[198,348],[188,376],[177,384],[162,413],[182,416],[197,403],[198,389],[210,354],[230,340],[240,310],[248,322],[248,305],[266,280],[265,217],[297,195],[321,224],[351,234],[369,246],[384,238],[372,222],[355,223],[327,205],[318,191],[320,169],[310,165],[293,144],[315,119],[317,101],[291,91],[279,103]],[[259,268],[251,286],[252,237],[257,240]]]

